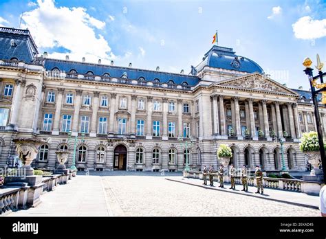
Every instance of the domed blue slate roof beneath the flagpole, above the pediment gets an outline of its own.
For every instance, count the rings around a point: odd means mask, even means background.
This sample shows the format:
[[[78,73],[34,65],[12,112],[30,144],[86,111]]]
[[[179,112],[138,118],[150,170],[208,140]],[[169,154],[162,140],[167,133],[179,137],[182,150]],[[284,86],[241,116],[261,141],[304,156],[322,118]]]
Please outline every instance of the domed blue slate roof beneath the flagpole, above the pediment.
[[[263,73],[263,69],[253,60],[243,56],[237,56],[232,48],[219,47],[217,45],[210,48],[196,69],[197,71],[201,71],[205,66],[247,73]]]

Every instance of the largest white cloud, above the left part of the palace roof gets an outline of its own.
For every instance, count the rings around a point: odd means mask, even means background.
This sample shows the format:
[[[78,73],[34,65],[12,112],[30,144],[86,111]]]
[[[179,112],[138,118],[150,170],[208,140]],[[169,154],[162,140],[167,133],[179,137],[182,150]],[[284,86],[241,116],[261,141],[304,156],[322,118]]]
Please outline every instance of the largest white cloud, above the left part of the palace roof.
[[[67,52],[50,52],[50,56],[72,60],[97,62],[115,56],[105,38],[95,30],[103,29],[105,22],[86,13],[85,8],[56,8],[54,0],[37,0],[38,7],[23,15],[22,28],[30,30],[36,45],[44,48],[64,47]]]

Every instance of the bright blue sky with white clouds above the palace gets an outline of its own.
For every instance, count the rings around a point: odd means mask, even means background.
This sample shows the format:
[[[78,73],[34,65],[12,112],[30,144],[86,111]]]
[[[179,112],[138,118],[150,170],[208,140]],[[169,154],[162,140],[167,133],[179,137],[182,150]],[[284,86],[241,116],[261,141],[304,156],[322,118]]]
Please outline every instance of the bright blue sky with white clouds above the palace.
[[[325,1],[2,0],[0,25],[18,27],[21,12],[39,52],[56,58],[189,72],[218,30],[219,45],[288,87],[309,88],[306,56],[326,62]]]

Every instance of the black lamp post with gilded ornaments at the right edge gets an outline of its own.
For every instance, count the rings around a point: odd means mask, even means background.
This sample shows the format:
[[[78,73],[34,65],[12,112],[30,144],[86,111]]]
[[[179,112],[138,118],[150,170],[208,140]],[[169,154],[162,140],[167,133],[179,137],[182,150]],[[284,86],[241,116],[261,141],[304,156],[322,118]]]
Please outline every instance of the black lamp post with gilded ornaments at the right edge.
[[[317,134],[318,134],[318,142],[319,142],[319,151],[320,151],[320,158],[321,163],[323,166],[323,173],[324,173],[324,182],[326,182],[326,158],[325,158],[325,149],[324,149],[324,142],[323,142],[323,133],[320,126],[320,117],[319,117],[319,110],[318,110],[318,102],[317,102],[317,95],[318,93],[322,93],[322,103],[326,104],[326,84],[323,81],[323,76],[326,75],[326,72],[322,72],[321,69],[323,69],[323,63],[320,62],[319,56],[317,54],[317,66],[316,69],[318,69],[318,75],[313,76],[312,71],[313,69],[310,67],[312,65],[312,60],[309,58],[305,58],[303,61],[303,65],[306,67],[304,72],[308,76],[308,80],[310,83],[310,89],[312,91],[312,101],[314,103],[314,115],[316,118],[316,128],[317,128]],[[316,82],[316,80],[320,80],[320,84]],[[316,88],[318,90],[316,90]]]

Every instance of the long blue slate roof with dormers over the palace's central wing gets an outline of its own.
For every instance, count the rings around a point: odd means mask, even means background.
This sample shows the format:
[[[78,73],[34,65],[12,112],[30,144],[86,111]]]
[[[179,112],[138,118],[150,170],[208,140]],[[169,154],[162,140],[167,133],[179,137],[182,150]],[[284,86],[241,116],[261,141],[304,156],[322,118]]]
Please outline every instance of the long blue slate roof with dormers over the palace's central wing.
[[[47,71],[58,68],[60,71],[69,72],[70,70],[74,69],[77,71],[77,73],[80,74],[86,74],[87,71],[92,71],[95,76],[103,76],[105,73],[109,73],[111,77],[116,78],[120,78],[122,74],[126,72],[127,78],[132,80],[138,80],[140,77],[143,77],[146,81],[153,81],[154,79],[158,79],[162,83],[167,83],[169,80],[173,80],[175,84],[182,84],[182,82],[187,82],[189,86],[195,86],[199,82],[199,78],[196,76],[111,65],[99,65],[87,62],[76,62],[72,60],[56,60],[45,58],[43,65]]]

